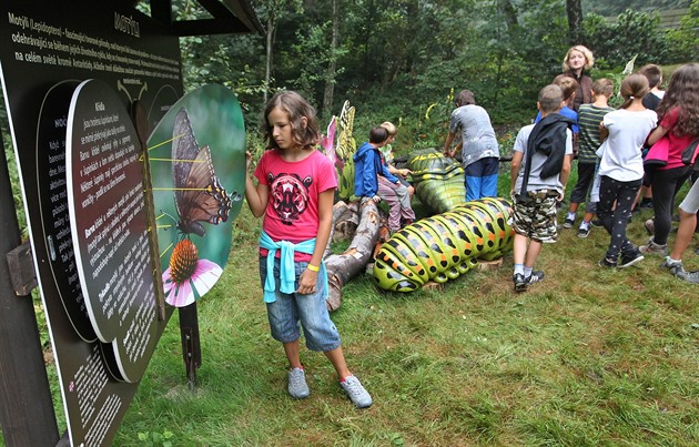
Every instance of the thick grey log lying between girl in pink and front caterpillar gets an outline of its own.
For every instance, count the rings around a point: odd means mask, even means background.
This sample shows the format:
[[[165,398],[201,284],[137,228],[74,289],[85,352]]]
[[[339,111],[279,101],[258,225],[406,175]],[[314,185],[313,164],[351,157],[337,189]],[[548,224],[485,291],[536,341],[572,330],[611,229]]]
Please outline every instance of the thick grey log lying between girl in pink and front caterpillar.
[[[359,204],[359,224],[350,247],[342,254],[325,258],[330,288],[326,304],[330,312],[342,305],[342,287],[366,268],[378,237],[378,225],[376,203],[371,199],[363,199]]]

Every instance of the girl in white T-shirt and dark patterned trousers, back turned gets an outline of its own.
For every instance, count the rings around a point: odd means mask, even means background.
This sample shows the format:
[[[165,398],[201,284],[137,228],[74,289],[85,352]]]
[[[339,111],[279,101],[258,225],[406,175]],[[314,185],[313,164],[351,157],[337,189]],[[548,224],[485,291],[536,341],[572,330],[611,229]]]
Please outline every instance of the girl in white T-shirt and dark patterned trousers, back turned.
[[[648,91],[648,79],[642,74],[626,78],[620,91],[624,104],[607,113],[600,125],[601,136],[608,136],[599,163],[597,213],[611,236],[607,254],[599,262],[602,267],[624,268],[644,258],[626,237],[626,226],[644,177],[641,149],[658,121],[656,112],[642,104]]]

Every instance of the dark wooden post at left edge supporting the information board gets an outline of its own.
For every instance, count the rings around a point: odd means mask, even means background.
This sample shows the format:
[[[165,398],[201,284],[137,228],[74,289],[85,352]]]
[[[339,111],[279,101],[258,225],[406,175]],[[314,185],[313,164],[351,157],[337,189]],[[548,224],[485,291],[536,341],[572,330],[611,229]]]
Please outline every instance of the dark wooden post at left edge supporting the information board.
[[[0,143],[2,138],[0,135]],[[4,150],[0,155],[0,426],[8,447],[55,446],[53,400],[31,295],[17,296],[6,261],[20,245]]]

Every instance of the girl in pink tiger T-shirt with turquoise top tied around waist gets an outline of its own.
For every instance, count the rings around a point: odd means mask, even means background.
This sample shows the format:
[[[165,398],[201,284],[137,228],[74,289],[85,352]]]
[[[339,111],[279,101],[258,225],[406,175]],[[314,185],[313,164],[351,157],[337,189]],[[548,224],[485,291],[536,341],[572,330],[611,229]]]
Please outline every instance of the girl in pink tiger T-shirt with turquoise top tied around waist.
[[[340,334],[325,299],[327,276],[323,253],[333,222],[337,180],[332,162],[315,150],[320,141],[315,110],[295,92],[275,94],[264,113],[267,151],[254,176],[245,182],[245,199],[256,217],[264,215],[260,237],[260,277],[274,339],[288,360],[288,394],[297,399],[311,390],[300,358],[301,327],[311,351],[331,360],[340,385],[359,408],[372,397],[352,375]],[[252,155],[247,153],[247,165]]]

